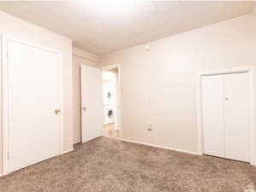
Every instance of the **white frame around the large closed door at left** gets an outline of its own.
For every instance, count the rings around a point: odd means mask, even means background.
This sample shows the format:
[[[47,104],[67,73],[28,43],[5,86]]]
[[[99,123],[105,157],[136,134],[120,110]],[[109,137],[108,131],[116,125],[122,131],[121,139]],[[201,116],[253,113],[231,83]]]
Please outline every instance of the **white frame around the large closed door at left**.
[[[20,44],[26,44],[28,46],[43,49],[49,52],[53,52],[57,55],[59,55],[60,58],[60,67],[61,67],[61,79],[60,79],[60,149],[59,154],[63,154],[63,54],[62,51],[56,50],[56,49],[49,49],[42,47],[38,44],[32,44],[29,42],[22,41],[17,38],[9,37],[8,35],[1,35],[1,55],[2,55],[2,68],[0,69],[2,72],[0,72],[0,75],[2,75],[2,90],[0,90],[0,96],[2,96],[2,125],[3,125],[3,131],[2,131],[2,138],[3,138],[3,175],[8,174],[7,166],[8,166],[8,152],[9,152],[9,86],[8,86],[8,41],[15,41]],[[1,87],[1,84],[0,84]],[[1,103],[0,103],[1,108]]]

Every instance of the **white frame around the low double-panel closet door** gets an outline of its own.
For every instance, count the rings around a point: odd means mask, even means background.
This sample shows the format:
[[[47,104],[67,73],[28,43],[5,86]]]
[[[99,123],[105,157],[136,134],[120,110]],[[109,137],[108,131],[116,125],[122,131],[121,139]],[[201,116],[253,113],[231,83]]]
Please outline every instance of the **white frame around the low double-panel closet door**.
[[[203,154],[203,125],[202,125],[202,77],[208,75],[248,73],[250,79],[250,127],[249,127],[249,160],[256,166],[256,126],[255,126],[255,69],[254,67],[230,68],[225,70],[198,73],[197,75],[197,131],[198,150]]]

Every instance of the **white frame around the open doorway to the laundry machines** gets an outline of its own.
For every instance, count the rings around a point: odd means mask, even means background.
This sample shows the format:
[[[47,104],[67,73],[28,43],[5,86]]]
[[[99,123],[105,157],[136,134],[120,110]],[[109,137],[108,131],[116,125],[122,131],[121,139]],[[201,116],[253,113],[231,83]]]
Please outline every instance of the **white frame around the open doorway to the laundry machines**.
[[[121,88],[121,66],[120,65],[110,65],[110,66],[106,66],[106,67],[102,67],[101,70],[102,71],[108,71],[111,69],[118,69],[118,74],[117,74],[117,121],[118,121],[118,130],[119,130],[119,135],[122,136],[122,121],[121,121],[121,110],[122,110],[122,106],[121,106],[121,92],[122,92],[122,88]]]

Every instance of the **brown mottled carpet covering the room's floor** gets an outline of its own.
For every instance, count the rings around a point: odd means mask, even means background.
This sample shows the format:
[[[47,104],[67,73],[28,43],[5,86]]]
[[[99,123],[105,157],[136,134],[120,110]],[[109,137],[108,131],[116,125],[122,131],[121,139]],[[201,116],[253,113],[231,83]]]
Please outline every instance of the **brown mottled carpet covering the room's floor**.
[[[0,178],[1,192],[242,192],[247,163],[100,137]]]

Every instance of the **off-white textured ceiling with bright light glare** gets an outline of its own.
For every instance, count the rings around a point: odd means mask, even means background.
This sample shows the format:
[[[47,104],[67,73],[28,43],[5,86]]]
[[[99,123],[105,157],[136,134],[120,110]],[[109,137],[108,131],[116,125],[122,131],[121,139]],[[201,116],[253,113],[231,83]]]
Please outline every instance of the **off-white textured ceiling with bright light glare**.
[[[0,9],[97,55],[253,12],[254,1],[0,1]]]

